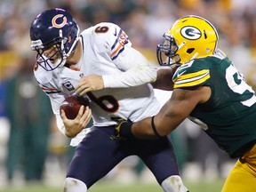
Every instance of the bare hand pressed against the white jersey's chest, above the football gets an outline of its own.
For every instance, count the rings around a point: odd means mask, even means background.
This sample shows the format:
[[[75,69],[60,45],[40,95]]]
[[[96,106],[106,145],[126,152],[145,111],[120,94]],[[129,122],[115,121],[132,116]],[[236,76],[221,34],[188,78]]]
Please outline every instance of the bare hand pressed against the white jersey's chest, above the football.
[[[98,91],[104,88],[102,76],[83,76],[76,86],[76,93],[84,95],[86,92]]]

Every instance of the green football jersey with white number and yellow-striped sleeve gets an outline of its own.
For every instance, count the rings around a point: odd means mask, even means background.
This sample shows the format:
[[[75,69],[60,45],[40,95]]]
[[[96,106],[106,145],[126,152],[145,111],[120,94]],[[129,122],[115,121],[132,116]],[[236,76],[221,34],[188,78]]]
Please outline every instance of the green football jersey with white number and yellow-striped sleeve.
[[[211,87],[210,100],[197,105],[189,119],[229,156],[242,156],[256,143],[256,97],[223,52],[181,65],[172,81],[175,89]]]

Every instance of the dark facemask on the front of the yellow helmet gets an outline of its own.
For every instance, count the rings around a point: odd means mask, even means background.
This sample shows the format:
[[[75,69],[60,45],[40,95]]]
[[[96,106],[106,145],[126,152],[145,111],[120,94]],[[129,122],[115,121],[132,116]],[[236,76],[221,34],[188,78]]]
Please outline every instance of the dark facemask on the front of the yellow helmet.
[[[175,39],[164,33],[164,44],[158,44],[156,47],[156,56],[160,66],[180,65],[180,56],[176,53],[178,49]]]

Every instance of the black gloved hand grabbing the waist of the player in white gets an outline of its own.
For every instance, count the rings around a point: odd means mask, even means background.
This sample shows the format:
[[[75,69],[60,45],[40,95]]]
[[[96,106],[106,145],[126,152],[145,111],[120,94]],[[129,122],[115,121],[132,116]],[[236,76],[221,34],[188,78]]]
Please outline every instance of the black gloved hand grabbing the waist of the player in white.
[[[130,119],[123,119],[121,117],[111,117],[111,120],[116,121],[115,134],[110,136],[111,140],[127,140],[134,139],[132,135],[132,121]]]

